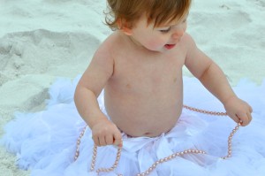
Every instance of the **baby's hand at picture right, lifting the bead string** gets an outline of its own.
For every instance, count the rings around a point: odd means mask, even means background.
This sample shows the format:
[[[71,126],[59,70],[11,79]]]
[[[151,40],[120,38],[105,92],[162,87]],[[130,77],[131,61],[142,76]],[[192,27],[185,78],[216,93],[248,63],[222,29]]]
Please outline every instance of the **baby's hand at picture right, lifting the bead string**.
[[[237,123],[241,121],[241,126],[247,126],[252,120],[252,107],[237,96],[232,96],[223,105],[231,119]]]

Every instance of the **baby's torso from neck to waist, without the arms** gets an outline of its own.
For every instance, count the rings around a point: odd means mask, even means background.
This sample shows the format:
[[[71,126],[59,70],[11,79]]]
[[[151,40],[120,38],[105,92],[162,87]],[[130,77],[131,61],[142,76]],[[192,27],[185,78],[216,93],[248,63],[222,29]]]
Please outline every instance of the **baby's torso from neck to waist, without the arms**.
[[[175,126],[183,105],[182,41],[166,52],[139,49],[130,39],[114,34],[114,73],[105,87],[110,119],[131,136],[157,136]]]

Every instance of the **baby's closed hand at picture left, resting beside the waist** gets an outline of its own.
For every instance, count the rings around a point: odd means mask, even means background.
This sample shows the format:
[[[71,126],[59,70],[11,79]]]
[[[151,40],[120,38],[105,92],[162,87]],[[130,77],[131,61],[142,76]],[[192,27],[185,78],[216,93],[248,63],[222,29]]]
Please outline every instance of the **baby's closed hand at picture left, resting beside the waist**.
[[[117,145],[122,147],[122,136],[117,126],[108,119],[99,120],[91,128],[96,146]]]

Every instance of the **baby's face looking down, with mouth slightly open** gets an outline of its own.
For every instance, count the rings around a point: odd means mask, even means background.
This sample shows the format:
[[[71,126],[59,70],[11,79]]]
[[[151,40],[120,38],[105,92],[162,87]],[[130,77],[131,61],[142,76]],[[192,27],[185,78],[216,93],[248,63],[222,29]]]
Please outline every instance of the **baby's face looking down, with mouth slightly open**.
[[[154,27],[154,22],[148,24],[148,19],[142,17],[133,27],[131,38],[133,42],[148,50],[159,52],[171,50],[178,46],[178,42],[186,32],[187,16],[188,14],[181,19],[164,23],[160,27]]]

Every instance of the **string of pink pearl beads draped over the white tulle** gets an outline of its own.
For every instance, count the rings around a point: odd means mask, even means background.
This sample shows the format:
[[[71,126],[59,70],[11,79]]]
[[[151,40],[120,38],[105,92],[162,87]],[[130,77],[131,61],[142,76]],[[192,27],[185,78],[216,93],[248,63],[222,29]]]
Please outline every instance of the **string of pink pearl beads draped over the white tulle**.
[[[226,112],[217,112],[217,111],[205,111],[205,110],[200,110],[197,108],[193,108],[187,105],[183,105],[183,108],[190,110],[190,111],[197,111],[199,113],[205,113],[208,115],[215,115],[215,116],[227,116]],[[239,126],[241,126],[241,121],[237,124],[237,126],[235,126],[235,128],[231,131],[231,134],[228,137],[228,152],[227,155],[225,157],[221,157],[223,159],[226,159],[228,157],[231,157],[231,140],[233,135],[239,130]],[[81,142],[81,139],[83,137],[83,135],[85,134],[87,129],[87,126],[85,126],[82,130],[82,132],[79,135],[78,141],[77,141],[77,147],[76,147],[76,152],[75,152],[75,156],[74,156],[74,160],[77,160],[77,158],[79,157],[79,145]],[[110,168],[99,168],[96,170],[97,174],[99,174],[100,172],[112,172],[114,169],[117,168],[118,165],[118,161],[120,159],[121,156],[121,151],[122,148],[118,148],[117,149],[117,156],[116,159],[114,161],[114,164],[110,167]],[[141,172],[138,173],[136,176],[147,176],[150,172],[152,172],[157,165],[161,165],[167,161],[170,161],[172,159],[174,159],[175,157],[182,157],[186,154],[207,154],[205,151],[200,150],[200,149],[186,149],[184,151],[180,151],[177,153],[173,153],[172,155],[168,156],[168,157],[163,157],[162,159],[159,159],[157,161],[155,161],[155,163],[153,165],[150,165],[150,167],[148,168],[147,171],[145,172]],[[93,148],[93,156],[92,156],[92,162],[91,162],[91,166],[90,166],[90,171],[93,172],[95,170],[95,159],[96,159],[96,155],[97,155],[97,146],[94,145]],[[118,176],[123,176],[122,174],[118,174]]]

